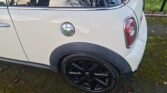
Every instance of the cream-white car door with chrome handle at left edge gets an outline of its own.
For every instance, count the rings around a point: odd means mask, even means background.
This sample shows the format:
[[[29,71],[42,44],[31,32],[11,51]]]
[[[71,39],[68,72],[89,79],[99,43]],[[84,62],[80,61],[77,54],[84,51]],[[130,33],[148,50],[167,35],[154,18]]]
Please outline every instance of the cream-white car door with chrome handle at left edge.
[[[6,0],[0,0],[0,57],[27,61],[10,18]]]

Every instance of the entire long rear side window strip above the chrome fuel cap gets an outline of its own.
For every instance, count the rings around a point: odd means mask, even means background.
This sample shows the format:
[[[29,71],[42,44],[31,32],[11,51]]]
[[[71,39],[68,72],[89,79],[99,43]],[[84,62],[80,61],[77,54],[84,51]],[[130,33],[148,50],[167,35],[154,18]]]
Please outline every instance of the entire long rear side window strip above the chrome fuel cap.
[[[9,0],[11,6],[40,7],[112,7],[122,0]]]

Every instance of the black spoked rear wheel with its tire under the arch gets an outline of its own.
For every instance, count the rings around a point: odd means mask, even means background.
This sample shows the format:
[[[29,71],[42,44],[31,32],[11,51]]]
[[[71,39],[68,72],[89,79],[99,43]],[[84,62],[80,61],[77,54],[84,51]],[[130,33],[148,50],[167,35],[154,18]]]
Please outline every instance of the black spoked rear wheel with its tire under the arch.
[[[61,71],[73,86],[90,93],[113,90],[119,81],[119,73],[112,65],[88,54],[66,56]]]

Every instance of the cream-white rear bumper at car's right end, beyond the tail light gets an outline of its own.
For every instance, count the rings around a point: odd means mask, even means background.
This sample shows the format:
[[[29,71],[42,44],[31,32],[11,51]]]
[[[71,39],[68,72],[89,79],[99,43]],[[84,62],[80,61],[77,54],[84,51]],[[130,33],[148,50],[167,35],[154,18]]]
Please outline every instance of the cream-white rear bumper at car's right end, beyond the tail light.
[[[139,35],[138,38],[132,47],[131,52],[125,57],[125,59],[128,61],[132,72],[136,71],[140,61],[142,60],[145,47],[147,42],[147,23],[145,15],[143,14],[143,19],[140,24],[139,28]]]

